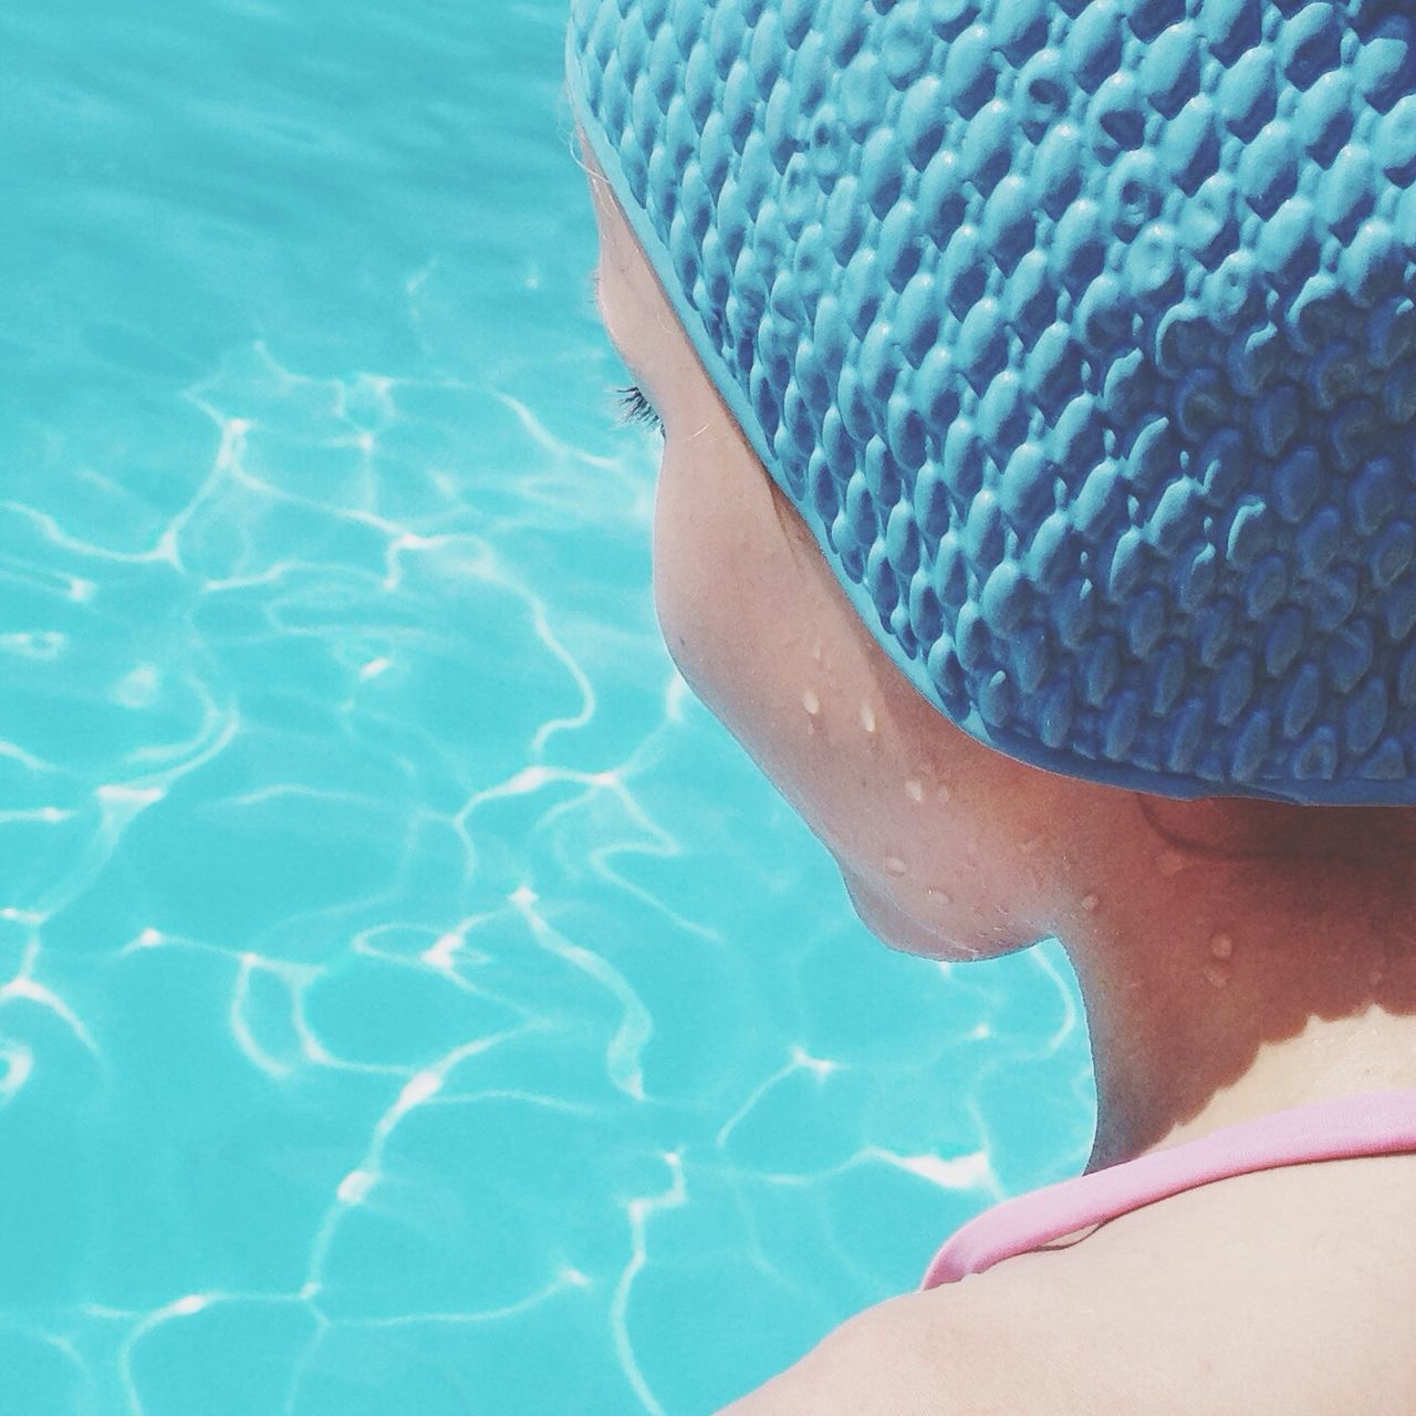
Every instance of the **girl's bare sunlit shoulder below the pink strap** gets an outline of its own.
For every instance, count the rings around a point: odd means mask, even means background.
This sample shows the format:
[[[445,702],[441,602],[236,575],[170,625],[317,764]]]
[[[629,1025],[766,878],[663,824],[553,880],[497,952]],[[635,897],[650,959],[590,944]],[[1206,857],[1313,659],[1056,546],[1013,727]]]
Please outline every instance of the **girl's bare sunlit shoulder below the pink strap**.
[[[1410,1416],[1416,1157],[1236,1177],[893,1298],[722,1416]]]

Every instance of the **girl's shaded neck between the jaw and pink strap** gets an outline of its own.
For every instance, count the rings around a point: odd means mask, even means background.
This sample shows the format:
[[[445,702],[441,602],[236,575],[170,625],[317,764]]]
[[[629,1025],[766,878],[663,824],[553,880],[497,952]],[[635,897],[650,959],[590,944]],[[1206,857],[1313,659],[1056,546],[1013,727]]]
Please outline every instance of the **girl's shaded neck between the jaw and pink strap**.
[[[1307,1102],[1416,1089],[1416,944],[1395,910],[1131,841],[1106,895],[1059,930],[1096,1061],[1089,1170]]]

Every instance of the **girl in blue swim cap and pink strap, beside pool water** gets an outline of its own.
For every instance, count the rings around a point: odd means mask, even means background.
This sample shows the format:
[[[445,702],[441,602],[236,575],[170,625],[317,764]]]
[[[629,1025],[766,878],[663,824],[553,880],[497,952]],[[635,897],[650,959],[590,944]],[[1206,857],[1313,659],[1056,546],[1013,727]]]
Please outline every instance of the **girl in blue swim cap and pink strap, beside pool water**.
[[[729,1410],[1410,1416],[1408,7],[573,0],[568,58],[670,651],[884,942],[1061,939],[1096,1063],[1083,1177]]]

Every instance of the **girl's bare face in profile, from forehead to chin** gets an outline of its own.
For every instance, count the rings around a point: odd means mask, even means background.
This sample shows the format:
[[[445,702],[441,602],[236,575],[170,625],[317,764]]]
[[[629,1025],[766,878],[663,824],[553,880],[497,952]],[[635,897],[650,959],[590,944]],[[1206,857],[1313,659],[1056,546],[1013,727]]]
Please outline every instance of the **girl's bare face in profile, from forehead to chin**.
[[[882,937],[960,956],[1041,937],[1020,881],[1001,888],[1007,838],[1039,837],[1046,810],[1034,799],[1061,779],[960,732],[865,633],[702,371],[610,188],[595,171],[590,185],[605,323],[664,428],[654,599],[684,677],[831,848]],[[1000,888],[970,888],[961,861]],[[995,899],[1012,913],[984,908]]]

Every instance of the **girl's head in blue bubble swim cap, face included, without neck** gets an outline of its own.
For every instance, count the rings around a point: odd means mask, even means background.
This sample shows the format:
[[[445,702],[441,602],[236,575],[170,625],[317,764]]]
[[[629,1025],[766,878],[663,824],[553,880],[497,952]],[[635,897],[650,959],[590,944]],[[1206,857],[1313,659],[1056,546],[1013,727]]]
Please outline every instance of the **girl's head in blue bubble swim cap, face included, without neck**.
[[[1406,845],[1276,803],[1413,800],[1413,75],[1379,4],[575,6],[666,636],[886,937]]]

